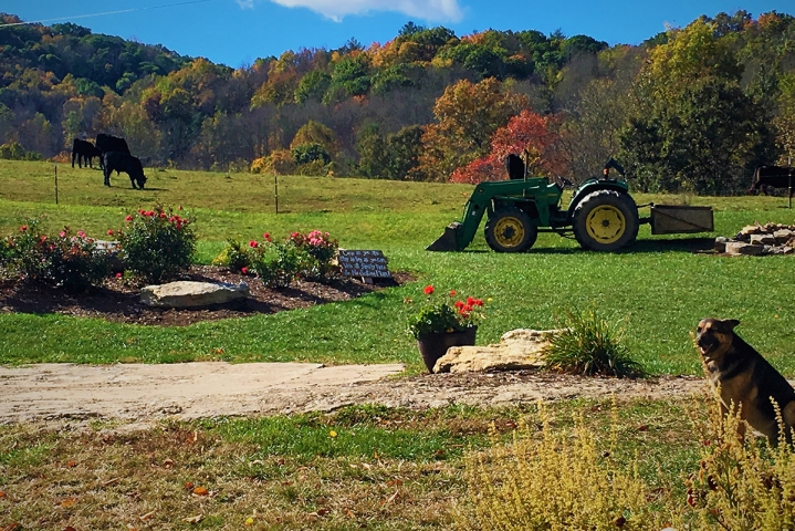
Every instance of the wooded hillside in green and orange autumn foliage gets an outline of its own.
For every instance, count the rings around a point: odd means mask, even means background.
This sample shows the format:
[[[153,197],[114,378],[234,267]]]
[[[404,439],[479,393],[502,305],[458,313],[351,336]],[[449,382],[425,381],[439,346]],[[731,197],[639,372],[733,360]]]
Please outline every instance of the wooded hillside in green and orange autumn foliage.
[[[20,20],[0,14],[0,23]],[[731,192],[795,155],[795,18],[702,17],[640,45],[533,30],[286,51],[230,69],[72,23],[0,28],[0,158],[124,136],[180,168],[573,180],[619,158],[642,190]]]

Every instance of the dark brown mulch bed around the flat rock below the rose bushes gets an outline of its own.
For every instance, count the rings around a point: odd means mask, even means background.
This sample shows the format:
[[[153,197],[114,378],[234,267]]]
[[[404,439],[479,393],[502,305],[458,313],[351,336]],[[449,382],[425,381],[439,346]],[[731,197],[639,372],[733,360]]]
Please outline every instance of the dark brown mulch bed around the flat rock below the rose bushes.
[[[0,312],[4,313],[61,313],[82,317],[101,317],[117,323],[186,326],[200,321],[248,317],[308,308],[327,302],[339,302],[401,285],[415,279],[409,273],[393,272],[394,279],[377,279],[366,284],[360,279],[334,279],[328,283],[300,280],[289,288],[271,289],[255,277],[232,273],[227,268],[193,266],[179,280],[197,282],[244,281],[250,295],[229,304],[195,309],[151,308],[140,303],[139,288],[125,284],[121,279],[107,279],[87,293],[70,295],[59,290],[29,285],[13,280],[0,281]]]

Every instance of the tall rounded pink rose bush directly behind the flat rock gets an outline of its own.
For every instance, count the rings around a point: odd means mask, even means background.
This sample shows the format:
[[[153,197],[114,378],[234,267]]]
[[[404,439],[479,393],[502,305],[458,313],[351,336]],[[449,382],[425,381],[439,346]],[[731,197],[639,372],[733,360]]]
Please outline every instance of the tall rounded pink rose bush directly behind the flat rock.
[[[193,219],[156,207],[127,216],[119,230],[119,258],[127,270],[148,283],[176,278],[187,271],[196,250]]]

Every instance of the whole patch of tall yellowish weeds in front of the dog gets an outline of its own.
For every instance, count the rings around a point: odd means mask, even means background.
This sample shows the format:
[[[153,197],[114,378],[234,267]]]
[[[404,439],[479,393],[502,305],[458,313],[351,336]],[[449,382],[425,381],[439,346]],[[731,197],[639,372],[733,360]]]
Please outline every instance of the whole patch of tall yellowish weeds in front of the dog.
[[[553,428],[540,404],[537,417],[524,418],[512,441],[494,436],[491,448],[470,452],[459,528],[795,529],[795,449],[738,435],[743,423],[739,410],[724,416],[716,400],[707,407],[697,403],[690,413],[690,445],[698,448],[698,468],[680,477],[658,469],[657,487],[640,476],[641,456],[629,461],[615,457],[627,442],[619,439],[615,405],[613,412],[609,435],[599,439],[582,410],[573,427]]]

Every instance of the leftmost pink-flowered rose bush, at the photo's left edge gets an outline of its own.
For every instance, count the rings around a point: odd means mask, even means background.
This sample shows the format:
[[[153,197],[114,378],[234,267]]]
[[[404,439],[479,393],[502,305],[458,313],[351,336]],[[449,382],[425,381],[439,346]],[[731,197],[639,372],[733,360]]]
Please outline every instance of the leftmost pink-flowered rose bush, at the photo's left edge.
[[[64,227],[56,236],[48,236],[39,230],[39,220],[32,219],[2,240],[0,268],[23,282],[81,292],[102,284],[109,259],[82,230],[73,233]]]

